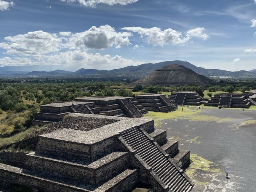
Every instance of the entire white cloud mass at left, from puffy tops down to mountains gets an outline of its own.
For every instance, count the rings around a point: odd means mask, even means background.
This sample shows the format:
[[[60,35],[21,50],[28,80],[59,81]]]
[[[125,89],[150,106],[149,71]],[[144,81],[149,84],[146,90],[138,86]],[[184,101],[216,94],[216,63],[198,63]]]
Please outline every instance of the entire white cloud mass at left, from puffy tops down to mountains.
[[[4,38],[0,48],[4,54],[0,66],[22,65],[62,65],[66,68],[119,68],[138,65],[140,62],[128,60],[122,56],[88,53],[91,49],[128,46],[130,32],[116,32],[109,25],[92,27],[84,32],[48,33],[44,31],[28,32]]]

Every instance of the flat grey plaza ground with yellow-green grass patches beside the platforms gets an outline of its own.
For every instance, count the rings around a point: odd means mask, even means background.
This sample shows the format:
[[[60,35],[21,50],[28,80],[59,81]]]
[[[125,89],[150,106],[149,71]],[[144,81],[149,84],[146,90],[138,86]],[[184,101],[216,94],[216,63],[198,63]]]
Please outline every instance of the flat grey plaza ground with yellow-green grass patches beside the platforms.
[[[149,112],[157,129],[190,150],[186,174],[193,192],[252,192],[256,188],[256,107],[242,109],[179,106],[169,113]],[[183,111],[182,111],[183,108]],[[230,179],[226,179],[226,167]]]

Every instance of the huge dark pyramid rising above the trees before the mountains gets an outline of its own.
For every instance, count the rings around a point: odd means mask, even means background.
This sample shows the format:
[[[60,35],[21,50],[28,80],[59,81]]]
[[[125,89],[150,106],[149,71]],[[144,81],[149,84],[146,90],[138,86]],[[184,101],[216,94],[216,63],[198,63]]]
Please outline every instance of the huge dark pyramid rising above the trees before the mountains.
[[[172,85],[190,85],[206,86],[212,84],[212,81],[203,75],[199,75],[183,65],[171,64],[140,78],[136,82],[129,84],[142,86],[172,86]]]

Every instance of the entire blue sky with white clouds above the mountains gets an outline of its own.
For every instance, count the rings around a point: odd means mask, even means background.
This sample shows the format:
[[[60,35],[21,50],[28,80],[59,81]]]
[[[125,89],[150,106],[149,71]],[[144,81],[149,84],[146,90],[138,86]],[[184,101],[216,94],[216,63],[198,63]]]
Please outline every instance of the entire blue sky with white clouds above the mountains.
[[[256,0],[0,0],[0,66],[256,68]]]

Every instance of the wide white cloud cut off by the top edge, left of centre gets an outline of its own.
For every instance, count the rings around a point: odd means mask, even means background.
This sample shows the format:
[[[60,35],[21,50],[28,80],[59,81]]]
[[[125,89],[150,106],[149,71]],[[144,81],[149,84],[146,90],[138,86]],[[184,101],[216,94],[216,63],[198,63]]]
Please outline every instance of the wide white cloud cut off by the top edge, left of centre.
[[[110,6],[119,4],[119,5],[127,5],[137,2],[138,0],[61,0],[62,2],[78,2],[81,6],[86,7],[95,7],[97,4],[107,4]]]

